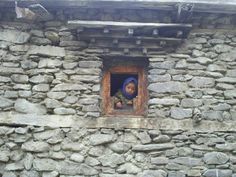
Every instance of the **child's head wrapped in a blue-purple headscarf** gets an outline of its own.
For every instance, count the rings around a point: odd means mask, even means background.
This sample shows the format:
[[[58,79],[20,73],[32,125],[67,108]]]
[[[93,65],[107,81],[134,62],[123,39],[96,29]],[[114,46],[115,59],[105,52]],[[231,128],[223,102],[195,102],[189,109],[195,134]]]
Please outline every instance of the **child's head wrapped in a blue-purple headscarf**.
[[[127,78],[122,87],[122,93],[127,99],[133,99],[137,95],[138,81],[134,77]]]

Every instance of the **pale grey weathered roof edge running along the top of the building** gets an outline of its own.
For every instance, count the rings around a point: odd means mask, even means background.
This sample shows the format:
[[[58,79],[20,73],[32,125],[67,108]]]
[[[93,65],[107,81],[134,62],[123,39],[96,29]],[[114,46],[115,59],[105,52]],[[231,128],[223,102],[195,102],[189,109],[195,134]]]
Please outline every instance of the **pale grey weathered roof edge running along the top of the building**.
[[[0,6],[14,7],[15,0],[1,0]],[[28,6],[35,0],[20,0],[19,4]],[[194,4],[194,12],[213,12],[235,14],[235,0],[37,0],[45,7],[82,7],[82,8],[121,8],[155,9],[173,11],[179,3]]]

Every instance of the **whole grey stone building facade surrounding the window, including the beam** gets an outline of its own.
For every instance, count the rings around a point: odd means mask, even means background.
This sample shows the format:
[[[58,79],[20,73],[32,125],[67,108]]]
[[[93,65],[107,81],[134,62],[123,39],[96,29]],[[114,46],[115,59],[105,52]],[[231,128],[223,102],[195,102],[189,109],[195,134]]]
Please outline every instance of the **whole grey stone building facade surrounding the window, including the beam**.
[[[0,176],[236,177],[236,12],[44,5],[49,18],[29,21],[0,3]],[[164,36],[171,47],[127,50],[109,48],[109,29],[68,23],[78,19],[192,28]],[[100,36],[83,39],[85,28]],[[144,115],[104,115],[114,65],[143,66]]]

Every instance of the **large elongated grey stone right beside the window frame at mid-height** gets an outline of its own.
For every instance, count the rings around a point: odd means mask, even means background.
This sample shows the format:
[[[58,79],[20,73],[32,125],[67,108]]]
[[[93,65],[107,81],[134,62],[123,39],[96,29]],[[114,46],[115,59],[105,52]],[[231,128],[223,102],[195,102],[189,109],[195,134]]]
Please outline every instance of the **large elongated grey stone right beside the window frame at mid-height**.
[[[148,90],[156,93],[179,93],[187,89],[187,84],[180,82],[153,83],[148,86]]]

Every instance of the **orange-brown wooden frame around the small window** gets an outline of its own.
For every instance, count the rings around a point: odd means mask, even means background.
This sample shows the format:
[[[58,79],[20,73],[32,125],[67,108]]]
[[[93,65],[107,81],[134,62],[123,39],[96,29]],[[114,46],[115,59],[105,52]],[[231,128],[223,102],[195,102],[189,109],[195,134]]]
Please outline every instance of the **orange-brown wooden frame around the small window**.
[[[137,74],[138,94],[134,100],[133,110],[118,110],[112,105],[111,93],[111,74]],[[105,71],[102,80],[102,107],[103,113],[109,115],[134,115],[144,116],[147,105],[147,79],[143,67],[140,66],[115,66]]]

